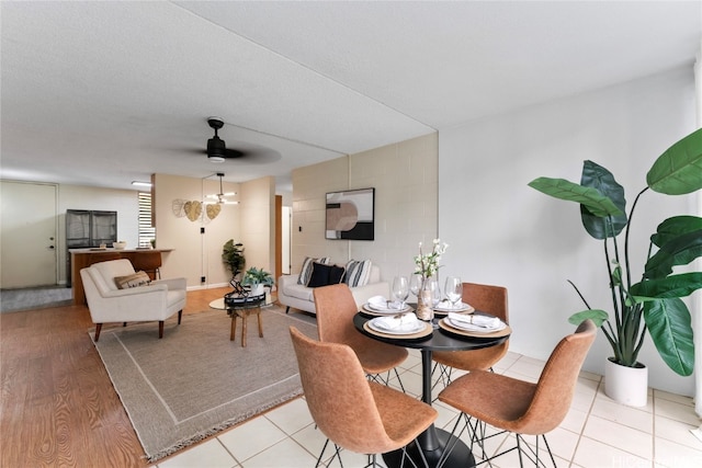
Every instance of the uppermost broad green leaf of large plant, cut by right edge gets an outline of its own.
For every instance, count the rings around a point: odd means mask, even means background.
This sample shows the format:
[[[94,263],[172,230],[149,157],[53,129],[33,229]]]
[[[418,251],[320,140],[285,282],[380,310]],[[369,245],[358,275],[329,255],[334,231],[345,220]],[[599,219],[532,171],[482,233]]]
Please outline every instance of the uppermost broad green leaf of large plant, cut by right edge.
[[[702,189],[702,128],[682,138],[658,157],[646,174],[658,193],[683,195]]]

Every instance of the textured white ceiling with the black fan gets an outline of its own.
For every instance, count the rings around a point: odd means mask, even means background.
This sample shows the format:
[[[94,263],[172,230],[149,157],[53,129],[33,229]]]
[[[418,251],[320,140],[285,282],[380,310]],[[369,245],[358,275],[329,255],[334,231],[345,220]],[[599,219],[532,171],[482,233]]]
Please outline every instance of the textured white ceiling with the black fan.
[[[692,67],[702,34],[698,1],[5,1],[0,20],[0,176],[117,189],[290,190],[296,167]],[[279,157],[208,162],[211,115],[227,147]]]

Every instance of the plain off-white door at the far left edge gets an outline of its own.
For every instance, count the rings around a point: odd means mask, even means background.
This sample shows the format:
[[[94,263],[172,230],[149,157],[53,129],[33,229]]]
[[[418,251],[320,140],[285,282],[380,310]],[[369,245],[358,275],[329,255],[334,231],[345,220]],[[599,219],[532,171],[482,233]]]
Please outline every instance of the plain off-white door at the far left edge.
[[[0,287],[57,283],[56,185],[0,182]]]

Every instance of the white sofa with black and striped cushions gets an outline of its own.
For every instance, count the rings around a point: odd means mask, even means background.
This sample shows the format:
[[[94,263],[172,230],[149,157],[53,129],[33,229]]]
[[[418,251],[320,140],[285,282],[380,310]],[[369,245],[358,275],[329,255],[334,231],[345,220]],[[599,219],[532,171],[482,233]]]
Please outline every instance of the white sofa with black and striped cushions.
[[[295,309],[304,310],[310,313],[317,313],[315,308],[315,298],[313,296],[312,287],[307,287],[302,284],[297,284],[296,275],[283,275],[278,278],[278,301],[285,306],[285,313],[290,311],[291,307]],[[355,300],[359,309],[362,305],[373,296],[389,296],[390,287],[387,282],[381,281],[381,269],[376,265],[371,266],[371,276],[369,283],[365,286],[352,287],[351,294]]]

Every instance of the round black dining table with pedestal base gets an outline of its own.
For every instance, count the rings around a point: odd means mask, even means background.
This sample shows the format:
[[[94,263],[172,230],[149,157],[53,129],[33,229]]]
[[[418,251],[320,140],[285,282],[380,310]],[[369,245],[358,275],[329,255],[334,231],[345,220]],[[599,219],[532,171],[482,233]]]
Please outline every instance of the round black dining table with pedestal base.
[[[479,311],[476,311],[480,313]],[[431,404],[431,363],[434,351],[466,351],[482,347],[496,346],[503,343],[509,334],[499,338],[475,338],[458,333],[452,333],[443,328],[438,328],[438,320],[432,320],[433,330],[431,334],[417,339],[407,339],[403,335],[376,334],[364,328],[365,322],[374,317],[363,311],[353,317],[355,329],[364,335],[382,341],[395,346],[411,347],[421,352],[421,376],[422,376],[422,401]],[[423,458],[430,467],[473,467],[475,458],[468,446],[461,440],[451,435],[450,432],[435,427],[433,424],[417,437],[419,446],[423,453]],[[446,453],[448,452],[448,453]],[[422,456],[418,453],[416,444],[407,447],[407,453],[415,460],[417,466],[423,466]],[[388,467],[401,466],[403,450],[395,450],[383,454],[383,459]]]

